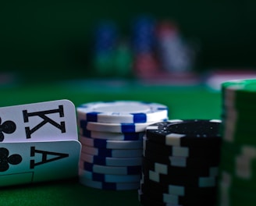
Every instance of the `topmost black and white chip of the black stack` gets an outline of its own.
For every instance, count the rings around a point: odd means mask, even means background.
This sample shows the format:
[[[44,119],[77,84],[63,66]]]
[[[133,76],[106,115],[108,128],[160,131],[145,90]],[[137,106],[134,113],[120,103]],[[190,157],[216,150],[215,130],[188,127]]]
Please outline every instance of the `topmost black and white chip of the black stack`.
[[[221,144],[218,119],[169,120],[147,126],[148,140],[170,146],[218,147]]]

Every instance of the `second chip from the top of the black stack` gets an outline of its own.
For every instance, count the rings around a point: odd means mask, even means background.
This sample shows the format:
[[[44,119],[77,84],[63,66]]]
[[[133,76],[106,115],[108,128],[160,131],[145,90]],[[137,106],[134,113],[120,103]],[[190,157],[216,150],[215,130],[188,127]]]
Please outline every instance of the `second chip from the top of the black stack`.
[[[212,158],[219,155],[220,147],[180,147],[158,144],[154,141],[143,138],[143,148],[146,151],[152,151],[166,156],[179,156],[184,158]]]

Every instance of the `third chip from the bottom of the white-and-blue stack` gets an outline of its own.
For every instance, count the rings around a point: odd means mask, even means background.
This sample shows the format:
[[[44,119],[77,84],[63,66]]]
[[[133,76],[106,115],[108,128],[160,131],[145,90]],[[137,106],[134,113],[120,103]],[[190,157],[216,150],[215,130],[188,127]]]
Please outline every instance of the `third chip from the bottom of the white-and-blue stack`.
[[[139,175],[141,172],[141,166],[104,166],[95,165],[90,162],[80,161],[80,169],[87,170],[89,172],[97,172],[101,174],[109,175]]]

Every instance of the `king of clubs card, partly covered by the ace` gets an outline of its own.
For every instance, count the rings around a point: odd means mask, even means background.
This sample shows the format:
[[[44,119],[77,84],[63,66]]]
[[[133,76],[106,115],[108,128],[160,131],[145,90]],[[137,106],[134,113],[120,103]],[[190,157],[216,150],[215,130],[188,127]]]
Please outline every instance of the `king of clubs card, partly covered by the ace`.
[[[69,100],[0,108],[0,142],[77,139],[76,108]]]

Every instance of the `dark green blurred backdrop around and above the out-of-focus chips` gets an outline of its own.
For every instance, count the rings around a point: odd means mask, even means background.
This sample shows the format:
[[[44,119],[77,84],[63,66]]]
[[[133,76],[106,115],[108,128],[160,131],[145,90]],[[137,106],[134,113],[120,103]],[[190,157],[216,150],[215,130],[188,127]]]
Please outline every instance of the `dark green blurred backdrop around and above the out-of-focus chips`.
[[[141,13],[175,20],[200,47],[197,70],[255,67],[253,0],[2,1],[0,71],[25,80],[94,76],[92,31],[98,21],[116,21],[123,35]]]

